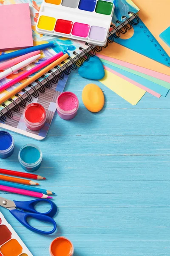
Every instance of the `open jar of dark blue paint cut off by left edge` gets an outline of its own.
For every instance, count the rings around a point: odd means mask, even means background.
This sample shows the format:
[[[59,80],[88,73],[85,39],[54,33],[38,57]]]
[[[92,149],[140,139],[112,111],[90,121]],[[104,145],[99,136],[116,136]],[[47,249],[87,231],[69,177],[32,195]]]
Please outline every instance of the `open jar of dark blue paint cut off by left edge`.
[[[14,138],[8,131],[0,131],[0,158],[10,157],[14,152]]]

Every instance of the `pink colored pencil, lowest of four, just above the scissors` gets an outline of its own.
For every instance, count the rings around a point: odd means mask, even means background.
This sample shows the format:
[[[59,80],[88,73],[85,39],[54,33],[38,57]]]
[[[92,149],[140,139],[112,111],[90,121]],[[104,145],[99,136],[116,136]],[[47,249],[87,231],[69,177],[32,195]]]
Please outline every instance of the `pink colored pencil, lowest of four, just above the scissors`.
[[[25,189],[10,188],[8,186],[3,186],[3,185],[0,185],[0,190],[6,191],[6,192],[11,192],[11,193],[16,193],[16,194],[20,194],[20,195],[33,196],[33,197],[37,197],[37,198],[52,198],[51,196],[44,195],[42,193],[33,192],[33,191],[25,190]]]

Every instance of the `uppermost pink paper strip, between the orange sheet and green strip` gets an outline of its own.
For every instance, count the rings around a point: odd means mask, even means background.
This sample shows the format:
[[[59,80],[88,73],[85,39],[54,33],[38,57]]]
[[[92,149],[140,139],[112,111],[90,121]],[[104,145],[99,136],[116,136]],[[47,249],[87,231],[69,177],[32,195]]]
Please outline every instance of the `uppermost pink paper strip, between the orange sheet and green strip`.
[[[130,68],[132,70],[141,72],[141,73],[143,73],[145,75],[153,76],[153,77],[155,77],[157,79],[160,79],[160,80],[163,80],[163,81],[166,81],[166,82],[170,83],[170,76],[167,76],[165,74],[162,74],[162,73],[159,73],[159,72],[156,72],[156,71],[153,71],[153,70],[149,70],[149,69],[144,68],[144,67],[139,67],[137,65],[130,64],[130,63],[125,62],[125,61],[120,61],[118,59],[111,58],[111,57],[108,57],[108,56],[105,56],[105,55],[102,55],[102,54],[96,54],[96,55],[99,58],[103,58],[106,61],[111,61],[111,62],[113,62],[115,64],[118,64],[118,65],[121,65],[123,67]]]

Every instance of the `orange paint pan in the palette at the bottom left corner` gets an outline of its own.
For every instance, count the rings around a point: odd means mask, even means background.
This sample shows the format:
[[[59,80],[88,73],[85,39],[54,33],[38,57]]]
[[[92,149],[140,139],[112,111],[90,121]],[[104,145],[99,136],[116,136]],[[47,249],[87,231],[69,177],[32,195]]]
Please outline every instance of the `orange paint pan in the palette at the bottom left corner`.
[[[3,256],[18,256],[22,253],[23,248],[16,239],[11,239],[0,248]]]

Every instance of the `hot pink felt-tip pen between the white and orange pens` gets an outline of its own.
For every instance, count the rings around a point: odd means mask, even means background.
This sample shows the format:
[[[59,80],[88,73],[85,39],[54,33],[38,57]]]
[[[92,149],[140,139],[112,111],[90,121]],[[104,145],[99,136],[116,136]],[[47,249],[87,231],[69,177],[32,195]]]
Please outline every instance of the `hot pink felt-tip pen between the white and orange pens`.
[[[39,65],[31,68],[31,70],[28,70],[26,73],[23,73],[22,75],[16,77],[15,79],[9,81],[6,84],[3,84],[0,87],[0,92],[2,92],[3,90],[6,90],[8,87],[11,87],[12,85],[16,84],[17,82],[25,79],[26,77],[30,76],[31,74],[37,72],[38,70],[42,69],[45,66],[48,66],[49,64],[51,64],[52,62],[56,61],[57,59],[59,59],[60,57],[62,57],[64,55],[63,52],[59,52],[56,55],[54,55],[53,57],[49,58],[48,60],[40,63]]]

